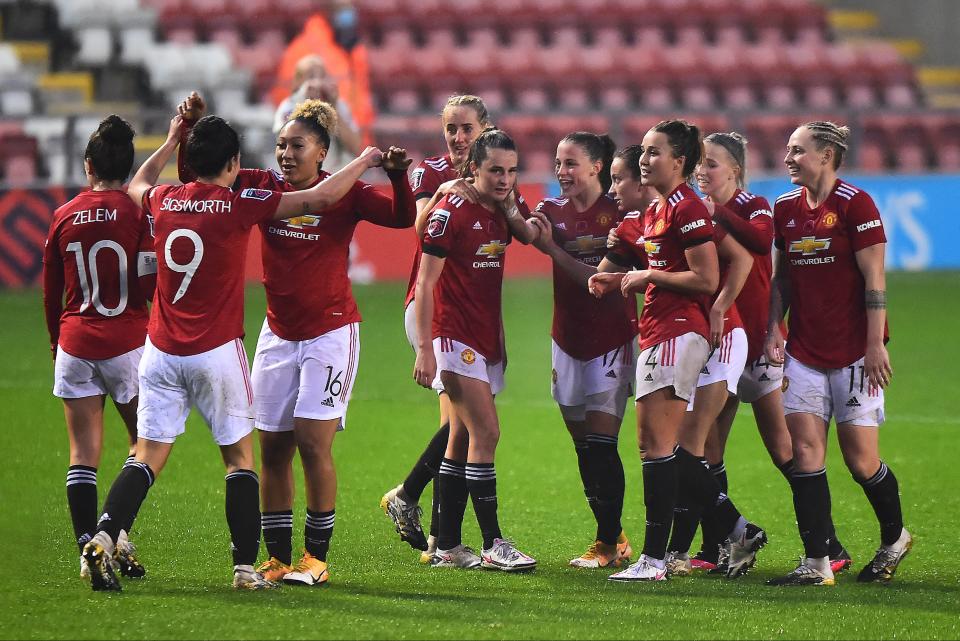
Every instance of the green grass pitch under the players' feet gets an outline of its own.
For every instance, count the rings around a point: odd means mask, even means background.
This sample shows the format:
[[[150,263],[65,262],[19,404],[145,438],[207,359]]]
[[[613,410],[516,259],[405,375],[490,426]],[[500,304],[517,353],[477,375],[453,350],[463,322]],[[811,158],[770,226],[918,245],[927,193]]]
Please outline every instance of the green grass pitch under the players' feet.
[[[309,280],[304,280],[309,287]],[[786,483],[770,464],[749,410],[727,454],[731,494],[765,527],[770,544],[737,581],[695,576],[620,585],[607,571],[567,567],[590,542],[570,439],[549,394],[551,293],[545,280],[508,282],[510,365],[498,399],[501,523],[539,560],[536,572],[434,570],[394,534],[378,507],[415,460],[437,421],[436,400],[412,378],[402,328],[402,286],[357,287],[365,321],[347,431],[337,437],[337,526],[331,583],[240,594],[229,587],[223,469],[192,416],[150,492],[134,540],[148,569],[122,594],[96,594],[78,578],[64,476],[67,437],[50,394],[52,364],[37,291],[0,294],[0,638],[957,638],[960,636],[960,274],[889,276],[894,367],[884,459],[900,480],[914,551],[890,585],[774,589],[801,546]],[[260,287],[248,290],[247,347],[263,319]],[[632,409],[621,452],[627,474],[624,526],[643,533],[640,461]],[[831,445],[828,470],[838,532],[858,570],[878,532],[860,487]],[[124,438],[108,412],[100,500],[123,461]],[[302,540],[298,483],[294,544]],[[428,510],[429,512],[429,510]],[[465,539],[479,545],[472,510]],[[296,551],[295,551],[296,553]]]

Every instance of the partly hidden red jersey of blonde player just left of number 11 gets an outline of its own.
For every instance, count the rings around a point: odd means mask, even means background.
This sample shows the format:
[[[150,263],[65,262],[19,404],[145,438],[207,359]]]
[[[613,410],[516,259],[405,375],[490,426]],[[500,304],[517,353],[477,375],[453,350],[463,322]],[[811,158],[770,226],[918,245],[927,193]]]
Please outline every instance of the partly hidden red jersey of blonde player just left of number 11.
[[[736,220],[731,221],[731,216],[736,217]],[[730,234],[753,255],[753,268],[737,296],[737,311],[747,334],[747,361],[755,361],[763,353],[767,319],[770,316],[773,212],[770,210],[770,203],[763,196],[755,196],[738,189],[729,202],[717,209],[713,220],[714,223],[719,223],[717,227],[729,226]],[[749,227],[744,228],[743,225]]]

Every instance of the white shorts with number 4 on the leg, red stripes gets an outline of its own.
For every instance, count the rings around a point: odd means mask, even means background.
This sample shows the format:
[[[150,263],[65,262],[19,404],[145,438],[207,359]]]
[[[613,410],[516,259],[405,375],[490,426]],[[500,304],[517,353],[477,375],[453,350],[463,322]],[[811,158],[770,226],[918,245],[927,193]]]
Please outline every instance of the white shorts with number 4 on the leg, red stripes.
[[[643,350],[637,359],[637,400],[658,389],[673,387],[677,396],[689,401],[709,356],[710,344],[696,332]]]

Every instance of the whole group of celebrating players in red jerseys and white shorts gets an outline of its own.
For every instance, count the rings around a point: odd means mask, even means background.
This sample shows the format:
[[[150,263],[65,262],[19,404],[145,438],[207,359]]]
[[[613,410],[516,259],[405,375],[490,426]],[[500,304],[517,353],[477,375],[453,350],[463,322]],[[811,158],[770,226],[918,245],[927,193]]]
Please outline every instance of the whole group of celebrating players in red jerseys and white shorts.
[[[70,436],[67,502],[81,576],[94,590],[120,590],[118,575],[144,576],[128,533],[191,408],[226,469],[233,586],[328,581],[332,444],[345,428],[360,347],[348,252],[363,220],[412,226],[421,241],[405,325],[413,377],[435,391],[440,428],[381,507],[424,564],[507,572],[537,564],[503,533],[497,509],[494,399],[505,384],[501,292],[514,239],[553,265],[552,395],[596,521],[571,566],[615,569],[613,581],[744,575],[767,535],[728,495],[724,449],[741,401],[752,405],[791,488],[804,547],[800,564],[769,583],[833,585],[852,565],[831,514],[831,420],[880,527],[858,580],[889,581],[910,551],[897,480],[879,454],[892,376],[886,238],[870,196],[837,177],[845,127],[818,121],[793,132],[784,162],[797,189],[772,208],[746,191],[739,134],[704,137],[667,120],[617,149],[608,136],[571,132],[556,150],[560,197],[531,210],[518,190],[516,145],[476,96],[447,101],[447,153],[409,177],[410,160],[396,147],[368,147],[324,172],[337,115],[318,100],[301,103],[280,129],[278,170],[242,169],[236,132],[205,112],[197,94],[184,100],[166,141],[129,183],[133,129],[105,119],[84,155],[90,190],[57,209],[47,238],[43,294],[53,391]],[[182,184],[157,185],[178,149]],[[386,172],[392,197],[359,180],[373,167]],[[243,274],[254,226],[267,314],[251,371]],[[288,277],[318,270],[325,277],[310,288]],[[98,518],[107,395],[130,456]],[[631,396],[646,510],[636,559],[621,524],[617,447]],[[307,506],[304,553],[294,559],[298,452]],[[431,482],[424,532],[420,499]],[[462,538],[468,498],[479,553]],[[261,532],[267,554],[258,564]]]

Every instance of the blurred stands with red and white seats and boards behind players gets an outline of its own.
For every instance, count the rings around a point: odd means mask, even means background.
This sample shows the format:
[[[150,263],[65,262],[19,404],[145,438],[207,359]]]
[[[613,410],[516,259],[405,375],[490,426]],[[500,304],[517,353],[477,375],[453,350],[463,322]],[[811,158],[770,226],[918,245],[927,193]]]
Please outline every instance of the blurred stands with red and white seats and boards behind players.
[[[787,190],[798,122],[851,126],[845,176],[878,201],[889,269],[960,267],[960,3],[952,0],[0,0],[0,286],[35,285],[53,208],[83,182],[86,137],[134,123],[138,162],[200,90],[273,167],[270,126],[296,61],[323,56],[365,139],[443,151],[437,113],[482,96],[521,151],[524,193],[556,190],[575,129],[635,143],[666,116],[750,140],[751,189]],[[168,166],[163,178],[175,180]],[[377,172],[370,180],[382,181]],[[65,190],[65,191],[64,191]],[[403,279],[412,234],[361,225],[355,280]],[[259,273],[251,241],[248,274]],[[532,249],[512,275],[544,274]]]

